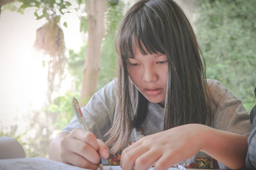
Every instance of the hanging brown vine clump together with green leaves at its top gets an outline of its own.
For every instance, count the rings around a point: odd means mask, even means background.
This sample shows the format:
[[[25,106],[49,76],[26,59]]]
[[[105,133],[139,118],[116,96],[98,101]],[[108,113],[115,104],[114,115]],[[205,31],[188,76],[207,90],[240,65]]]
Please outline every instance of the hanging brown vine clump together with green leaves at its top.
[[[60,89],[65,70],[65,41],[60,27],[61,15],[70,13],[71,3],[65,0],[18,0],[20,10],[34,7],[37,20],[45,18],[46,23],[36,30],[34,47],[44,54],[44,66],[48,69],[47,97],[51,102],[52,92]],[[63,24],[67,27],[67,22]]]

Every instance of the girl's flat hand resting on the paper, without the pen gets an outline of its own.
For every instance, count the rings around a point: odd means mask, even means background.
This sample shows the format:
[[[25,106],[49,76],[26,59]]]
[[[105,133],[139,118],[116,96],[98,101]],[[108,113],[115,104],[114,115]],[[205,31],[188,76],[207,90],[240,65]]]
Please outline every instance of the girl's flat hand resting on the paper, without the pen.
[[[158,132],[136,141],[122,152],[122,169],[168,169],[187,160],[204,145],[206,125],[187,124]]]

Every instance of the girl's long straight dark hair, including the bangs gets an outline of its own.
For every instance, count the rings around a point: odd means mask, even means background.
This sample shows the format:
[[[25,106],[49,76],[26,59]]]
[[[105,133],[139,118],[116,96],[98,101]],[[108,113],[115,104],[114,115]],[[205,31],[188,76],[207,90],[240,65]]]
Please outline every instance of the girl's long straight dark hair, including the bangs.
[[[148,101],[134,87],[127,71],[134,45],[143,54],[160,52],[168,57],[164,130],[191,123],[210,125],[213,120],[216,102],[207,86],[201,50],[188,18],[172,0],[139,1],[127,11],[116,34],[118,114],[106,134],[111,153],[127,143],[132,128],[147,116]]]

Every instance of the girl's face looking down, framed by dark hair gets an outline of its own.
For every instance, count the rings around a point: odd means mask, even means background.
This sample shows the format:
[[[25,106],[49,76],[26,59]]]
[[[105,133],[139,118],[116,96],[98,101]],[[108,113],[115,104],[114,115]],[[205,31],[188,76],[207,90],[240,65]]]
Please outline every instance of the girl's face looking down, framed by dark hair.
[[[134,48],[134,59],[129,58],[128,73],[137,89],[152,103],[164,104],[168,79],[168,60],[163,53],[143,55]]]

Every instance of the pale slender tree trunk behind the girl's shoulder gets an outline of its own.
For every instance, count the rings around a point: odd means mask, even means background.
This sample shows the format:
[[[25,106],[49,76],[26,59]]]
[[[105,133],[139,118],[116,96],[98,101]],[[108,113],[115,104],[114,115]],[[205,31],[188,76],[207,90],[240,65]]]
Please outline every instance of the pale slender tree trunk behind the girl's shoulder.
[[[85,106],[97,88],[100,65],[100,47],[104,37],[106,0],[87,0],[88,45],[83,68],[83,81],[79,103]]]

